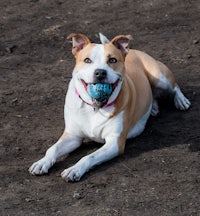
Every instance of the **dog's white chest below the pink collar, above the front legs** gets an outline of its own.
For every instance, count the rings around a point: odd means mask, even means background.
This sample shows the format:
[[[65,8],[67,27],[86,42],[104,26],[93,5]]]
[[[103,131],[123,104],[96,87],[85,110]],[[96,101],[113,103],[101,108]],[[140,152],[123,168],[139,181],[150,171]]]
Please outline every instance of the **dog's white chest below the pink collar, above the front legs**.
[[[77,96],[71,86],[65,101],[65,125],[68,133],[101,143],[105,142],[106,137],[121,133],[123,112],[110,118],[114,106],[94,110]]]

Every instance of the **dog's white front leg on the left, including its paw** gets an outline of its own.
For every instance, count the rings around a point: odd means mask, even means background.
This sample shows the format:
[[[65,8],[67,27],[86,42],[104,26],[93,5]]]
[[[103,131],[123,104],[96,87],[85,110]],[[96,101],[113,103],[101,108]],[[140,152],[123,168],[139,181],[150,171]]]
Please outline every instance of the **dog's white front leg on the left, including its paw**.
[[[81,145],[81,139],[64,133],[62,137],[47,151],[45,156],[32,164],[29,172],[32,175],[42,175],[48,173],[50,167],[63,155],[66,155]]]

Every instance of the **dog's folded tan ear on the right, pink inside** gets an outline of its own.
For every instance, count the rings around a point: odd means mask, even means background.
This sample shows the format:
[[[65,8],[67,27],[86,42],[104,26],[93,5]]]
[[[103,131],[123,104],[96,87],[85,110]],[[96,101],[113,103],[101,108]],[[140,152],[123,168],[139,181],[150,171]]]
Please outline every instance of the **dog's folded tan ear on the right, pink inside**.
[[[111,40],[111,43],[126,55],[129,51],[130,40],[133,40],[131,35],[118,35]]]

